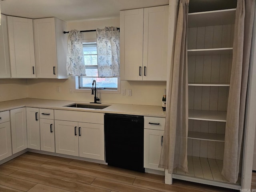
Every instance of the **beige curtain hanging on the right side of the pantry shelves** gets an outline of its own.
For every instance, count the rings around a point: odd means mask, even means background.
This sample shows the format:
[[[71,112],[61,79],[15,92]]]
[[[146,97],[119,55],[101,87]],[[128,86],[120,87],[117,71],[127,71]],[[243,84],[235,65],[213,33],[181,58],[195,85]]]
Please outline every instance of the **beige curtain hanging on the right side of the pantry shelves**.
[[[239,173],[254,11],[255,0],[237,1],[222,169],[232,183]]]

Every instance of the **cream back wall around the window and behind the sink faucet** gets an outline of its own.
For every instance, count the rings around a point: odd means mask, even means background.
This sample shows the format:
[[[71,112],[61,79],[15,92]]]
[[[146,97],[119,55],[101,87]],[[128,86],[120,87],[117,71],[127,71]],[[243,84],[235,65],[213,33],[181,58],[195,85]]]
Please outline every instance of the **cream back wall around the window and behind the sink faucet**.
[[[105,20],[87,20],[68,22],[67,29],[92,30],[104,28],[105,26],[119,27],[119,18]],[[84,33],[85,39],[96,38],[95,32]],[[91,92],[69,92],[69,88],[74,88],[74,78],[61,79],[28,79],[28,97],[54,100],[72,100],[92,102]],[[56,87],[60,86],[61,92],[57,92]],[[127,94],[102,93],[98,94],[100,102],[122,103],[122,104],[144,104],[162,105],[162,96],[166,82],[142,82],[142,81],[121,81],[122,89],[132,89],[132,96]]]

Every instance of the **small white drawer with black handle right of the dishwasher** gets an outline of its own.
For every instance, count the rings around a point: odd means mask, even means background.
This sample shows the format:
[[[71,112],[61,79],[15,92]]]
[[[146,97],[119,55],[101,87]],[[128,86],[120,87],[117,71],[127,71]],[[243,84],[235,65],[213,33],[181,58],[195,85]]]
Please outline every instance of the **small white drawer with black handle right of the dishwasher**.
[[[144,116],[145,129],[164,130],[164,124],[165,124],[165,118]]]

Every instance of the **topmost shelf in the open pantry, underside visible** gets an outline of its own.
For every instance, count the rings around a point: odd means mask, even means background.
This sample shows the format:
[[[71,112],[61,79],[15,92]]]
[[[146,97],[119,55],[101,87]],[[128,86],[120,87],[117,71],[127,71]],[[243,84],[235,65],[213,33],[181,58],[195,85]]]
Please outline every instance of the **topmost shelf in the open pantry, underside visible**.
[[[236,9],[215,10],[188,14],[188,27],[234,24]]]

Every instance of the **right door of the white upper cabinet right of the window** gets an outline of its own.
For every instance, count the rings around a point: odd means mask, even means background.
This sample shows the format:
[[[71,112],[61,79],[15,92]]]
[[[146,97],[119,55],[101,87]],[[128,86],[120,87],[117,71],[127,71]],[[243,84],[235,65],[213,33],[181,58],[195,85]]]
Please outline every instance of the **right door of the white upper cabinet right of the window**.
[[[143,80],[166,81],[169,6],[144,8]]]

